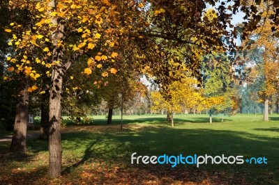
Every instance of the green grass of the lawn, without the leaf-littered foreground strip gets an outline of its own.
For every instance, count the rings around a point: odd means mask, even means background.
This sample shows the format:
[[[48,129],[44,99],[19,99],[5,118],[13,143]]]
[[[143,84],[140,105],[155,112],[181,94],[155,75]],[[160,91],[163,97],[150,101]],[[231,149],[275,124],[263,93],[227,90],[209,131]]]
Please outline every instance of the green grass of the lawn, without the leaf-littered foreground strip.
[[[94,125],[105,124],[105,115],[93,118]],[[114,116],[113,119],[114,124],[120,123],[119,116]],[[84,163],[102,161],[107,169],[121,164],[123,168],[195,172],[189,178],[198,183],[207,178],[206,175],[201,175],[206,172],[209,179],[215,177],[216,174],[220,176],[220,179],[227,178],[225,184],[240,183],[232,182],[232,178],[244,179],[248,184],[279,184],[278,120],[278,115],[272,115],[269,122],[262,121],[262,115],[234,115],[225,117],[224,122],[220,122],[220,118],[213,118],[213,123],[209,124],[208,115],[175,115],[175,127],[172,128],[165,121],[165,115],[126,115],[124,124],[137,125],[140,129],[92,130],[94,127],[85,125],[82,126],[85,131],[62,134],[64,172],[72,174],[75,179],[74,174],[78,174],[77,170],[82,171]],[[38,168],[40,173],[46,175],[47,142],[28,140],[30,153],[24,157],[6,155],[8,144],[0,143],[0,150],[3,151],[1,166],[5,163],[8,169]],[[171,168],[170,165],[131,166],[130,155],[133,152],[137,152],[137,155],[149,156],[161,154],[243,155],[245,159],[252,156],[265,156],[268,164],[202,165],[200,168],[183,165],[176,168]],[[38,159],[38,156],[41,158]],[[149,172],[153,173],[153,170]],[[196,178],[195,175],[200,177]],[[67,175],[66,177],[72,178]]]

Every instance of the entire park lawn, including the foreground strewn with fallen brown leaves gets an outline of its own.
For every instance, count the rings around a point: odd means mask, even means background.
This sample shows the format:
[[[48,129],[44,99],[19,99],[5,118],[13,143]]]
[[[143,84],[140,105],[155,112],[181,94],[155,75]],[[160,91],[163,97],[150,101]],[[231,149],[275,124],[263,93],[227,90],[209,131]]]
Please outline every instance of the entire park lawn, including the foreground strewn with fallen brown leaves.
[[[105,125],[105,115],[91,125],[69,125],[63,130],[63,176],[47,179],[47,142],[29,139],[29,153],[8,154],[0,143],[2,184],[279,184],[279,115],[269,122],[262,115],[126,115]],[[241,165],[131,165],[138,155],[265,156],[268,164]],[[1,184],[0,183],[0,184]]]

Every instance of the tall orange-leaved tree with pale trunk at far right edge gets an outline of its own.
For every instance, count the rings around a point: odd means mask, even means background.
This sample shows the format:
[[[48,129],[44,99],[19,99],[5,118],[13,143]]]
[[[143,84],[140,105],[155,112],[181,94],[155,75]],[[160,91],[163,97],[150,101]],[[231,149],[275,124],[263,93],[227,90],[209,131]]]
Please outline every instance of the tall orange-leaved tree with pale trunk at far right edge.
[[[264,102],[264,121],[269,120],[269,99],[278,92],[276,90],[276,86],[278,86],[278,38],[273,35],[273,30],[277,26],[270,19],[264,18],[273,15],[269,11],[271,4],[272,1],[266,1],[256,5],[257,9],[262,10],[263,17],[259,17],[259,21],[257,22],[259,27],[250,31],[248,38],[243,42],[243,47],[247,47],[248,49],[252,48],[254,51],[260,51],[260,54],[262,54],[262,63],[258,64],[255,61],[254,65],[259,65],[259,75],[264,78],[264,86],[262,86],[262,90],[259,92]],[[271,27],[273,29],[270,29]],[[250,61],[253,60],[252,57],[249,59]]]

